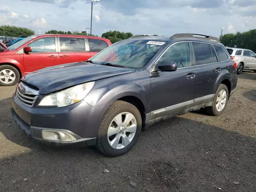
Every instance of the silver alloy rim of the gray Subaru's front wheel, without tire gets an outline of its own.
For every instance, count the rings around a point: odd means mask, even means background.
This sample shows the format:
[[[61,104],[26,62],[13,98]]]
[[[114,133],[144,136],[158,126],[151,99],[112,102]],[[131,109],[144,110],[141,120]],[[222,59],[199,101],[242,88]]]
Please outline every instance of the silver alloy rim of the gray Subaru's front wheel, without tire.
[[[137,130],[137,122],[133,114],[118,114],[108,127],[108,144],[114,149],[125,148],[132,142]]]

